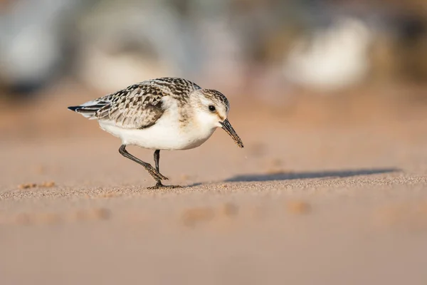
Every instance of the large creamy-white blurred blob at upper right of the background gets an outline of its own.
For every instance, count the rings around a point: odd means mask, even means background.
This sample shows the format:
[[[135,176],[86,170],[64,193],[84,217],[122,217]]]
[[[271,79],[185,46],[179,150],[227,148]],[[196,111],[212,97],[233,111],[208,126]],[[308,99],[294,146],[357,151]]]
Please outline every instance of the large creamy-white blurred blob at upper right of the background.
[[[285,58],[288,81],[315,90],[339,90],[361,82],[369,71],[372,32],[367,24],[340,17],[312,39],[300,38]]]

